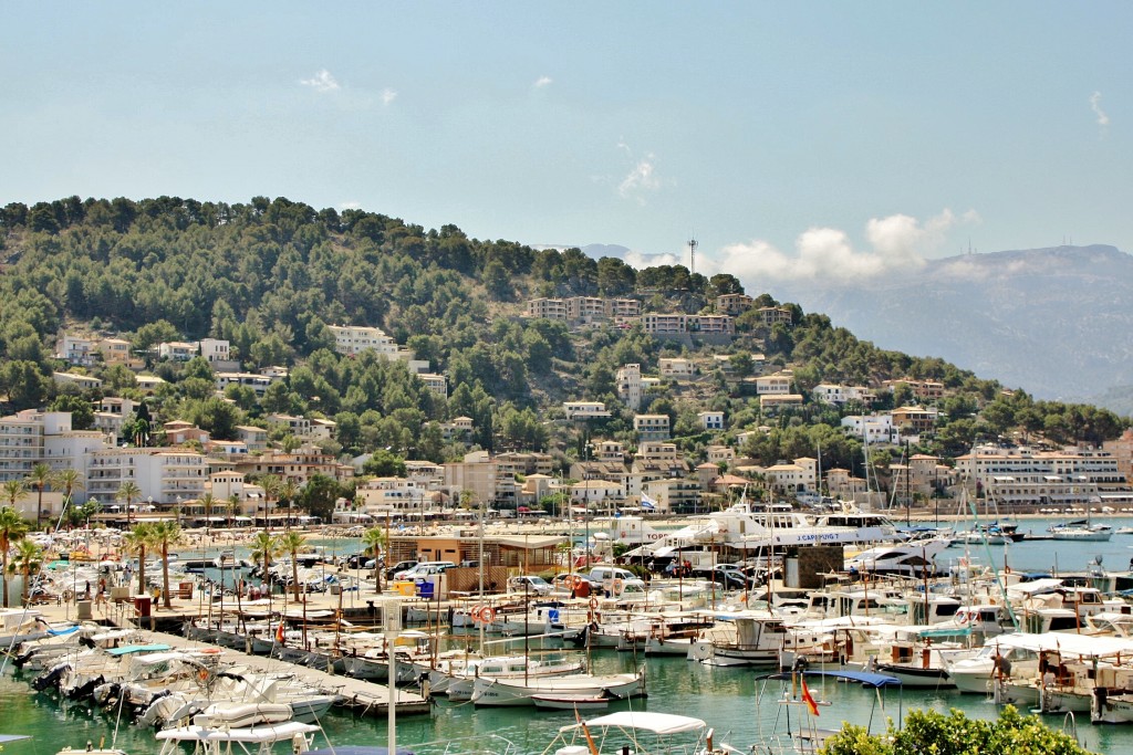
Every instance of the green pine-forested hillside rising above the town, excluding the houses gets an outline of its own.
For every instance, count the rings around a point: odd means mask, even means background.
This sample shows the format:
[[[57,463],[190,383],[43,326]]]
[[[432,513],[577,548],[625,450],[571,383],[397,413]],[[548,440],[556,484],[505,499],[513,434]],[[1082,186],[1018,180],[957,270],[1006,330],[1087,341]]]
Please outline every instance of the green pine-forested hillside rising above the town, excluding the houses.
[[[641,327],[570,331],[565,324],[521,316],[531,297],[633,297],[647,311],[698,312],[715,297],[742,292],[731,275],[706,278],[681,266],[636,271],[614,258],[594,260],[578,249],[535,250],[514,241],[469,239],[458,228],[426,230],[364,212],[315,209],[278,198],[248,204],[160,197],[78,197],[0,212],[0,394],[8,411],[83,406],[101,394],[138,394],[126,367],[96,366],[101,392],[57,385],[52,358],[62,332],[128,338],[150,369],[168,380],[148,400],[161,420],[185,419],[230,437],[265,413],[332,418],[335,453],[387,449],[391,457],[444,461],[466,451],[441,423],[472,418],[471,441],[488,449],[543,449],[564,462],[590,437],[632,441],[632,413],[614,396],[614,374],[628,362],[655,370],[665,355],[727,354],[726,368],[707,363],[691,385],[663,383],[642,411],[667,413],[674,436],[697,454],[709,441],[770,430],[744,449],[765,463],[813,454],[852,467],[861,449],[837,427],[862,406],[808,402],[774,419],[761,417],[742,378],[763,354],[769,369],[790,367],[799,393],[818,383],[878,386],[910,377],[942,381],[947,395],[938,430],[925,451],[963,453],[978,438],[1016,431],[1053,443],[1099,443],[1125,426],[1092,406],[1034,402],[1005,392],[937,359],[881,351],[829,319],[792,307],[792,323],[764,327],[749,314],[727,346],[658,341]],[[773,304],[764,292],[747,292]],[[401,362],[333,351],[327,325],[380,326],[448,377],[448,397],[425,389]],[[287,366],[290,376],[257,398],[230,387],[213,393],[208,364],[159,362],[160,342],[204,336],[230,341],[246,369]],[[140,395],[138,394],[138,397]],[[562,418],[564,400],[605,401],[613,417],[585,427]],[[881,405],[911,400],[885,393]],[[724,411],[727,431],[709,436],[696,413]],[[86,410],[88,411],[88,409]],[[280,439],[276,437],[276,439]],[[630,443],[632,445],[632,443]],[[858,460],[858,461],[855,461]]]

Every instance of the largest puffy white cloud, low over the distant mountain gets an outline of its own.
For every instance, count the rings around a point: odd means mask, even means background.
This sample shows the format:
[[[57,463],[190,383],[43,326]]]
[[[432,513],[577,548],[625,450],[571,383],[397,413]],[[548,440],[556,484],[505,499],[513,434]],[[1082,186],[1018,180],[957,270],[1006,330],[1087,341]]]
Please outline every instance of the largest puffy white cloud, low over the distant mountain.
[[[718,267],[740,278],[757,277],[761,282],[857,283],[923,266],[926,257],[944,243],[948,229],[978,221],[974,211],[957,218],[951,209],[925,222],[902,214],[875,217],[866,223],[866,240],[870,246],[866,250],[854,249],[845,231],[812,228],[795,240],[793,255],[757,239],[724,247]]]

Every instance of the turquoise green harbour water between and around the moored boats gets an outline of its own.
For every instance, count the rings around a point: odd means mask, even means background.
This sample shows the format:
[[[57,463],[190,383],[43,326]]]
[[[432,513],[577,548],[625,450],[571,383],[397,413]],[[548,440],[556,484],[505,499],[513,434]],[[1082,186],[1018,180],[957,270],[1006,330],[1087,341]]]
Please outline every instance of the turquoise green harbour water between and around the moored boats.
[[[1110,520],[1115,527],[1133,523],[1131,520]],[[1024,522],[1022,530],[1045,531],[1049,522]],[[357,541],[340,541],[340,552],[352,552]],[[1039,541],[1019,543],[1005,549],[990,548],[997,566],[1003,565],[1004,551],[1014,569],[1081,570],[1097,556],[1104,566],[1125,570],[1133,556],[1133,537],[1114,535],[1109,542],[1059,542]],[[964,555],[963,549],[953,548],[947,556]],[[969,557],[978,563],[987,561],[982,548],[969,549]],[[349,599],[348,599],[349,600]],[[598,672],[630,671],[642,662],[629,654],[613,652],[596,653],[594,667]],[[647,661],[649,697],[627,701],[611,706],[611,710],[650,710],[696,715],[716,729],[716,741],[726,741],[741,749],[753,743],[783,735],[785,707],[775,701],[780,688],[765,688],[757,681],[750,669],[709,668],[683,659],[650,658]],[[0,732],[32,735],[31,741],[11,743],[5,747],[5,755],[54,755],[63,746],[82,747],[87,739],[99,744],[105,738],[109,745],[114,731],[114,721],[101,710],[92,711],[85,703],[58,701],[54,697],[33,693],[27,686],[28,678],[14,676],[8,669],[0,677]],[[775,683],[777,684],[777,683]],[[763,696],[760,697],[760,690]],[[837,727],[847,720],[866,726],[874,717],[874,729],[884,728],[886,715],[896,717],[898,710],[927,707],[946,711],[960,707],[969,715],[994,718],[997,709],[978,695],[961,695],[955,692],[922,693],[909,690],[903,694],[886,693],[885,712],[874,707],[875,694],[855,685],[828,684],[812,690],[816,697],[828,701],[829,706],[820,710],[819,726]],[[792,717],[795,710],[792,710]],[[1065,723],[1062,717],[1047,717],[1054,728]],[[554,738],[559,727],[573,721],[568,712],[538,712],[534,709],[474,709],[470,704],[453,705],[441,700],[432,718],[409,718],[399,721],[398,741],[417,753],[440,753],[443,745],[420,746],[420,743],[437,743],[468,737],[496,735],[513,743],[512,753],[542,753]],[[351,718],[332,713],[323,721],[324,728],[335,745],[384,745],[386,729],[384,719]],[[138,730],[127,723],[119,727],[118,746],[134,755],[156,753],[153,733]],[[1098,753],[1133,752],[1133,727],[1091,727],[1089,721],[1079,721],[1077,733],[1083,744]],[[483,741],[482,741],[483,744]],[[415,746],[417,745],[417,746]],[[503,753],[502,740],[487,743],[487,749],[465,745],[451,748],[451,753],[496,752]]]

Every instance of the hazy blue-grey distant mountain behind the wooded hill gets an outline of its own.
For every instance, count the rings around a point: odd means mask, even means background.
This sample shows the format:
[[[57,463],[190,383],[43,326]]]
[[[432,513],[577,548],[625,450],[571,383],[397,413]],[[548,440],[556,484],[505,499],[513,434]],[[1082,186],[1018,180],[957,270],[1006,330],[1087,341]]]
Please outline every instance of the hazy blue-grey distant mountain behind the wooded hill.
[[[1040,398],[1128,411],[1133,256],[1111,246],[963,255],[868,284],[770,293],[884,349],[938,355]]]

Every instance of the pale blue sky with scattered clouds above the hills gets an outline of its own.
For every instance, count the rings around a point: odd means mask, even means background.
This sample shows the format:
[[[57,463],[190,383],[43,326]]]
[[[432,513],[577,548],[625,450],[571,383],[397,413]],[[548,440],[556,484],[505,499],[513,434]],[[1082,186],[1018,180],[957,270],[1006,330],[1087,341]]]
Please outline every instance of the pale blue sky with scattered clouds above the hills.
[[[1133,251],[1133,3],[11,2],[0,204],[283,196],[751,281]]]

